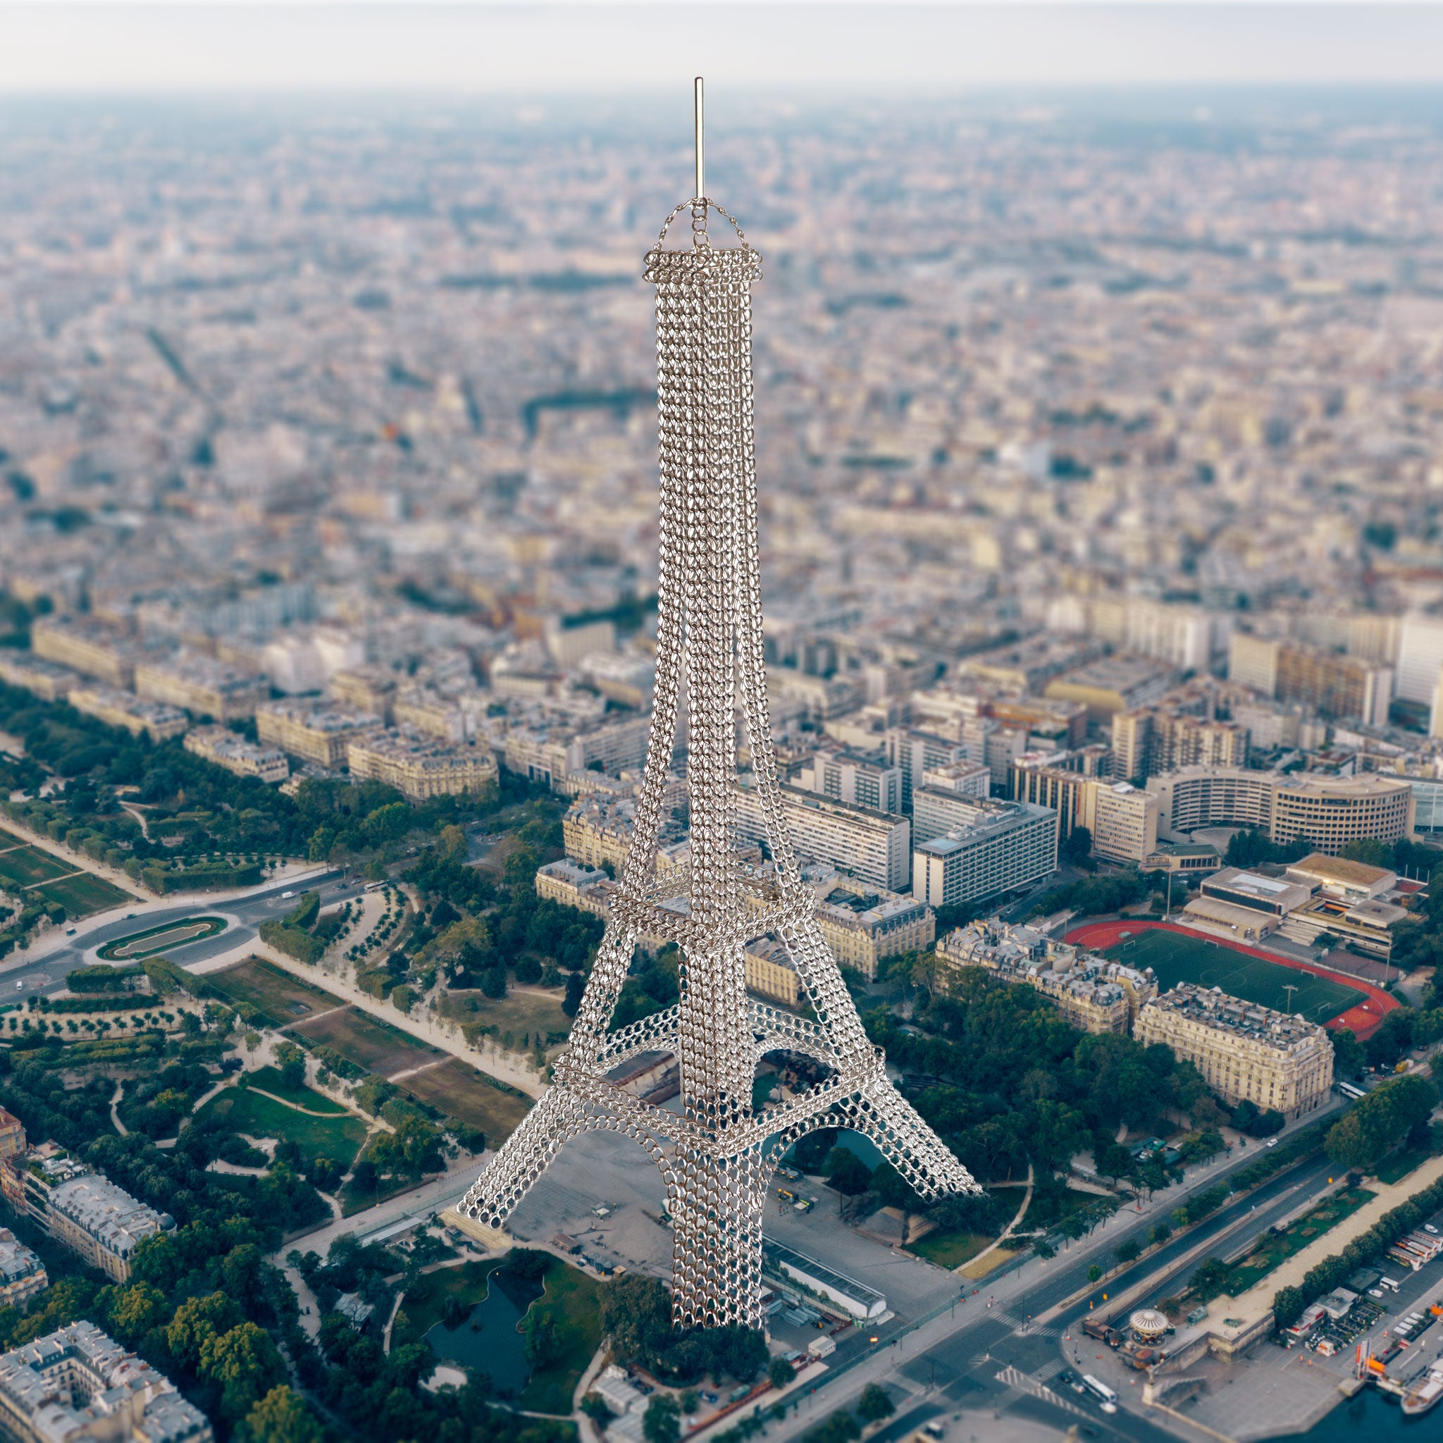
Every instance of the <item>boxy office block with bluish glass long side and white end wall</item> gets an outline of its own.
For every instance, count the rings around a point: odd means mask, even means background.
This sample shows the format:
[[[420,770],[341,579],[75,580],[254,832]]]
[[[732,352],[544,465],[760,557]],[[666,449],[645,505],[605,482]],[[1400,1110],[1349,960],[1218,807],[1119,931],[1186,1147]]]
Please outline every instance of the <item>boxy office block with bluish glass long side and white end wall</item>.
[[[918,847],[912,867],[912,895],[932,908],[1006,896],[1056,872],[1058,814],[990,802],[975,823]]]

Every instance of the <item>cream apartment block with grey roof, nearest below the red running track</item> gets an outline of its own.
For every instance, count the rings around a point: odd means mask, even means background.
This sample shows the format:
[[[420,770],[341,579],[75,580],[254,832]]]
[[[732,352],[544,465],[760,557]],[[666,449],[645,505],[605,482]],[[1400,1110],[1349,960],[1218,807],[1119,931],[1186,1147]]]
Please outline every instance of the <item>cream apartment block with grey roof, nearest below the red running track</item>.
[[[1234,1105],[1245,1098],[1294,1118],[1326,1102],[1333,1085],[1333,1045],[1322,1027],[1216,987],[1179,983],[1139,1012],[1133,1035],[1166,1043]]]

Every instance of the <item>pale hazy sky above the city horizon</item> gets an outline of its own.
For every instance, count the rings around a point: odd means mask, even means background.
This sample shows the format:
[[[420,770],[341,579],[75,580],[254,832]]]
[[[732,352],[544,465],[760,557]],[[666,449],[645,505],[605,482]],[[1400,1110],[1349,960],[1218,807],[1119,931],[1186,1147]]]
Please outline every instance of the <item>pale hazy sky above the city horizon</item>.
[[[1443,81],[1436,4],[0,3],[0,94]]]

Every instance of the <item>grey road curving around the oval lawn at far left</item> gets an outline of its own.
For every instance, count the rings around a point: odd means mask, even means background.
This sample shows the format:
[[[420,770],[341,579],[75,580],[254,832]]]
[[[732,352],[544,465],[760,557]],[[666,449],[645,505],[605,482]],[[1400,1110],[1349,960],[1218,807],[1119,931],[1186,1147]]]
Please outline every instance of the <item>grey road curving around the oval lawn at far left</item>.
[[[76,967],[88,967],[97,961],[97,948],[104,947],[105,942],[114,942],[117,938],[128,937],[131,932],[198,913],[224,916],[229,922],[224,932],[192,942],[189,947],[176,947],[165,954],[166,961],[180,967],[203,962],[254,941],[261,922],[284,916],[296,902],[294,898],[286,898],[283,893],[315,890],[320,892],[323,905],[332,906],[361,896],[365,892],[365,883],[346,883],[339,872],[320,872],[303,879],[289,877],[283,882],[266,883],[253,892],[231,896],[192,896],[179,903],[137,902],[134,911],[123,918],[111,916],[94,926],[81,922],[74,937],[52,932],[40,944],[42,947],[49,944],[48,951],[38,957],[25,957],[9,965],[0,965],[0,996],[14,997],[17,994],[58,991],[65,986],[66,975]]]

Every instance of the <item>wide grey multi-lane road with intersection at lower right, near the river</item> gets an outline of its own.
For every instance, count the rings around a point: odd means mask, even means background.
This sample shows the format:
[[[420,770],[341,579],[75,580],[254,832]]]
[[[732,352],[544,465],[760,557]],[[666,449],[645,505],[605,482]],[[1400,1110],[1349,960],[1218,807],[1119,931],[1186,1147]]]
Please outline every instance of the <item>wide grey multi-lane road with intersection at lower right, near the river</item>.
[[[1255,1157],[1247,1157],[1219,1169],[1224,1176],[1234,1166],[1242,1166]],[[1088,1313],[1088,1303],[1098,1309],[1107,1307],[1104,1291],[1110,1299],[1126,1293],[1134,1284],[1152,1280],[1141,1302],[1176,1291],[1192,1276],[1202,1258],[1211,1255],[1205,1250],[1201,1257],[1190,1254],[1211,1240],[1216,1240],[1216,1253],[1234,1255],[1245,1248],[1260,1232],[1280,1222],[1284,1216],[1302,1208],[1310,1196],[1323,1190],[1333,1169],[1326,1159],[1312,1159],[1284,1169],[1277,1177],[1261,1188],[1234,1199],[1203,1224],[1192,1228],[1165,1244],[1157,1251],[1133,1264],[1121,1273],[1088,1289],[1087,1270],[1104,1254],[1114,1253],[1128,1238],[1144,1241],[1144,1234],[1156,1225],[1159,1216],[1166,1216],[1177,1202],[1182,1190],[1163,1195],[1167,1208],[1162,1212],[1149,1211],[1143,1215],[1121,1212],[1105,1229],[1092,1238],[1059,1254],[1046,1266],[1036,1260],[1027,1261],[1017,1274],[993,1278],[975,1296],[968,1290],[965,1303],[952,1315],[925,1323],[912,1333],[903,1333],[883,1345],[870,1358],[859,1362],[830,1384],[823,1384],[814,1400],[781,1426],[781,1436],[788,1437],[814,1427],[834,1408],[854,1401],[867,1382],[882,1382],[899,1398],[899,1417],[873,1443],[893,1443],[905,1437],[929,1417],[951,1418],[961,1411],[981,1414],[990,1424],[1003,1413],[1020,1414],[1035,1423],[1043,1423],[1059,1434],[1074,1424],[1084,1434],[1098,1439],[1130,1439],[1137,1443],[1154,1443],[1162,1439],[1202,1439],[1188,1426],[1176,1431],[1159,1424],[1159,1414],[1144,1416],[1131,1411],[1128,1394],[1141,1392],[1140,1375],[1136,1390],[1117,1387],[1117,1364],[1108,1355],[1104,1364],[1097,1364],[1095,1354],[1104,1352],[1089,1341],[1081,1341],[1081,1322]],[[1206,1179],[1212,1180],[1212,1179]],[[1082,1294],[1074,1302],[1075,1294]],[[996,1304],[988,1309],[988,1296]],[[1134,1303],[1133,1306],[1140,1306]],[[1045,1323],[1029,1325],[1029,1316]],[[1076,1328],[1078,1330],[1074,1330]],[[1066,1339],[1071,1335],[1072,1342]],[[1081,1367],[1078,1365],[1081,1356]],[[1115,1414],[1104,1414],[1089,1395],[1078,1395],[1056,1381],[1056,1375],[1069,1368],[1074,1372],[1107,1368],[1107,1378],[1121,1395],[1121,1407]],[[773,1426],[775,1427],[775,1426]],[[769,1430],[771,1431],[771,1430]],[[974,1434],[986,1436],[984,1426],[974,1420]],[[949,1439],[955,1436],[949,1429]]]

